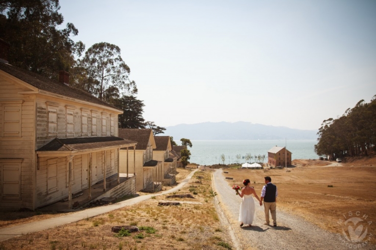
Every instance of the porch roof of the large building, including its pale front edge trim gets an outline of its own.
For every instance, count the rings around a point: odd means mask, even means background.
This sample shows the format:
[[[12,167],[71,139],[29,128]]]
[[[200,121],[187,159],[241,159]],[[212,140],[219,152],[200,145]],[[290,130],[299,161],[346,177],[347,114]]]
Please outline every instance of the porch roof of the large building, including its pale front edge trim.
[[[98,150],[133,147],[136,144],[137,142],[135,141],[126,140],[116,136],[54,138],[38,149],[37,154],[39,157],[50,155],[74,156]]]

